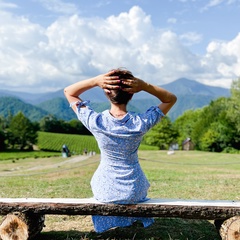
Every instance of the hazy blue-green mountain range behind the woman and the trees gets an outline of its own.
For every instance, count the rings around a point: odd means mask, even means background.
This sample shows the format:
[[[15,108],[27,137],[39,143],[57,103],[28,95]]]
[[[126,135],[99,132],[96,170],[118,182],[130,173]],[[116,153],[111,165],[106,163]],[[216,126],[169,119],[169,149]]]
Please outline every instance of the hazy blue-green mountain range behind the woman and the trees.
[[[173,121],[186,110],[201,108],[216,98],[230,96],[229,89],[205,85],[186,78],[177,79],[161,87],[178,97],[177,103],[168,114]],[[100,88],[93,88],[83,93],[82,98],[91,100],[91,106],[98,112],[110,106]],[[142,91],[133,96],[128,110],[143,112],[158,103],[157,98]],[[31,121],[39,121],[49,114],[65,121],[76,118],[69,108],[63,90],[36,94],[0,90],[0,116],[15,115],[19,111],[22,111]]]

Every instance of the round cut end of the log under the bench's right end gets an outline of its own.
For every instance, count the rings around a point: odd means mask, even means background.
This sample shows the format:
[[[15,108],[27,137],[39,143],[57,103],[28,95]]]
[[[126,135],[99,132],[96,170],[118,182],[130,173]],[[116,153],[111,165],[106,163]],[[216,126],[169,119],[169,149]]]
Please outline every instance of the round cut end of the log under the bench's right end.
[[[224,221],[220,228],[222,240],[240,240],[240,216]]]

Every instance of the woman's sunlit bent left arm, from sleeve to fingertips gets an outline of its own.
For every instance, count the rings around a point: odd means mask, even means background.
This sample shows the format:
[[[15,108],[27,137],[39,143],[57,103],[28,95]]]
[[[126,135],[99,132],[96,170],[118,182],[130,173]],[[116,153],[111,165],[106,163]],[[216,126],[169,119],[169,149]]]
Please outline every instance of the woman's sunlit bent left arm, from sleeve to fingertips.
[[[110,71],[106,74],[101,74],[96,77],[74,83],[64,89],[64,95],[69,103],[73,103],[82,101],[80,95],[83,92],[97,86],[101,87],[105,91],[108,91],[108,89],[118,89],[119,86],[117,84],[120,82],[120,80],[118,76],[110,76],[113,73],[114,71]],[[76,105],[73,105],[72,108],[76,112]]]

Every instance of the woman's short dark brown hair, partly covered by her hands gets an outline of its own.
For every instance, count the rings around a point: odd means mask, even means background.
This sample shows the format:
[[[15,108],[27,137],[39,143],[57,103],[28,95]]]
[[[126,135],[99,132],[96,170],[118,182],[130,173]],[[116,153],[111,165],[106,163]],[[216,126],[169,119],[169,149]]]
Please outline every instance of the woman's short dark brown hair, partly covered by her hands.
[[[111,74],[110,76],[118,76],[119,77],[120,82],[117,85],[120,88],[119,89],[109,89],[110,93],[106,94],[106,95],[112,103],[127,104],[131,100],[133,93],[129,93],[129,92],[122,90],[122,88],[129,88],[129,86],[123,84],[121,80],[132,79],[132,78],[134,78],[134,76],[130,71],[128,71],[126,69],[118,68],[118,69],[113,69],[113,70],[114,70],[114,73]]]

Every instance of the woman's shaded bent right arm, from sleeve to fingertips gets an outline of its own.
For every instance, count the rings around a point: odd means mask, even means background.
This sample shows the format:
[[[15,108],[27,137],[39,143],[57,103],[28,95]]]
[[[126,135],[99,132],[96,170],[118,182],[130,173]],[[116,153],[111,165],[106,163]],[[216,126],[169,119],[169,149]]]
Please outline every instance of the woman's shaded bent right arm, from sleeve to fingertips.
[[[167,112],[177,101],[177,97],[173,93],[167,91],[164,88],[144,82],[139,78],[127,79],[126,81],[123,81],[123,83],[130,86],[130,88],[125,88],[124,91],[128,91],[131,93],[145,91],[157,97],[161,101],[158,107],[164,114],[167,114]]]

